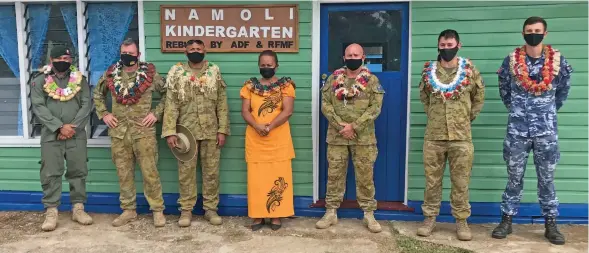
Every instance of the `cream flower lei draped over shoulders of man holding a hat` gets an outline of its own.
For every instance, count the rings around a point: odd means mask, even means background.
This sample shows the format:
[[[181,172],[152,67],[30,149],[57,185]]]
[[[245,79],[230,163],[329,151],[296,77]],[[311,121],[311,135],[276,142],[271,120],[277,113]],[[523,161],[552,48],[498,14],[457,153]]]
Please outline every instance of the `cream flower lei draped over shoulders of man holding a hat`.
[[[216,92],[217,78],[219,78],[219,67],[211,62],[206,63],[206,71],[200,75],[190,73],[185,69],[183,63],[179,62],[168,72],[166,86],[178,93],[178,99],[186,98],[184,87],[198,88],[200,92]]]

